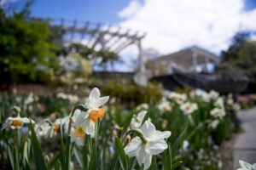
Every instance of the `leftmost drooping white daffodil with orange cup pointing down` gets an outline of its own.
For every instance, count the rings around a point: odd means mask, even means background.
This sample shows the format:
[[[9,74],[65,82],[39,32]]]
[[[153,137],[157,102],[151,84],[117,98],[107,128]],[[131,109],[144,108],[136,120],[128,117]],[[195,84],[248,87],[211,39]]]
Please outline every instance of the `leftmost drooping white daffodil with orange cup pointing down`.
[[[34,121],[31,120],[32,123],[35,123]],[[8,117],[5,123],[3,124],[2,129],[4,128],[21,128],[23,127],[24,123],[29,123],[29,119],[27,117]]]

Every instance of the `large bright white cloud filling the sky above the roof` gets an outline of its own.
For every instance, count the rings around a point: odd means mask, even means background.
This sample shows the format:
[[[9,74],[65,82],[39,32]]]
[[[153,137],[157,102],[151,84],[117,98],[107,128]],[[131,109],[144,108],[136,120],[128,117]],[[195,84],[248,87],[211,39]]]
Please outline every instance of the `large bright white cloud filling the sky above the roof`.
[[[245,0],[145,0],[143,5],[134,5],[136,2],[119,12],[126,17],[119,26],[147,31],[143,48],[156,48],[161,54],[193,45],[219,54],[237,31],[256,30],[256,9],[244,11]]]

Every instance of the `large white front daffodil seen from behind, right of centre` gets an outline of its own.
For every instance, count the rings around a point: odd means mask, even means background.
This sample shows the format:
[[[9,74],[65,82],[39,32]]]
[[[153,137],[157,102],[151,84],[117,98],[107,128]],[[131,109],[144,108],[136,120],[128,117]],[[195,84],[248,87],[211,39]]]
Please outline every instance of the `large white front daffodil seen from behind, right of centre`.
[[[140,166],[144,164],[144,168],[150,167],[152,156],[158,155],[167,149],[167,138],[171,136],[170,131],[160,132],[155,130],[154,124],[149,121],[144,122],[139,129],[143,133],[146,143],[139,137],[131,139],[131,142],[125,147],[125,154],[129,157],[136,156]]]

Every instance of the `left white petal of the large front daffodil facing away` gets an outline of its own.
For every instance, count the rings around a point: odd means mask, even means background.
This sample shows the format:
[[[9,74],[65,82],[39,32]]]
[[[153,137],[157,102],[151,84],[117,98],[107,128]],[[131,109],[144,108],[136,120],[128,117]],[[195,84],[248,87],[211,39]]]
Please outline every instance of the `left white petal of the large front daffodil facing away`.
[[[142,140],[139,137],[136,137],[131,140],[130,144],[127,144],[125,147],[125,154],[129,157],[137,156],[138,151],[141,148]]]

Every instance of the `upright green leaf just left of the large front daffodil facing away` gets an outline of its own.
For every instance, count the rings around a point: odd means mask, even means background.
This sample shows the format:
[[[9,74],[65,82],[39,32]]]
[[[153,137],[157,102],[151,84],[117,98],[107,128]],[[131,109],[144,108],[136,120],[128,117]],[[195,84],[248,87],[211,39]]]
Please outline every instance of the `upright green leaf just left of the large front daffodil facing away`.
[[[116,136],[115,137],[115,148],[119,157],[119,162],[123,170],[128,168],[128,163],[126,161],[125,157],[125,150],[124,147],[120,141],[120,139]]]

